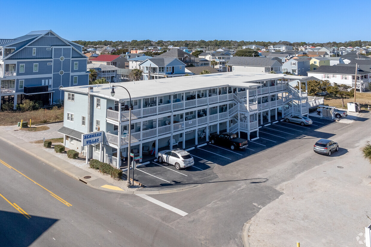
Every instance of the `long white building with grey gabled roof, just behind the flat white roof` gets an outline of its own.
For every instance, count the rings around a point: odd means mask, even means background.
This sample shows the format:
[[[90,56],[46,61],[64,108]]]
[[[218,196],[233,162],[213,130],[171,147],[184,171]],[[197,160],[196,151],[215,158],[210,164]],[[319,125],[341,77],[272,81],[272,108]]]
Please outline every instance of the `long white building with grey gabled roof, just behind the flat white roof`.
[[[270,73],[275,71],[282,73],[282,64],[270,57],[231,57],[227,64],[227,71]]]

